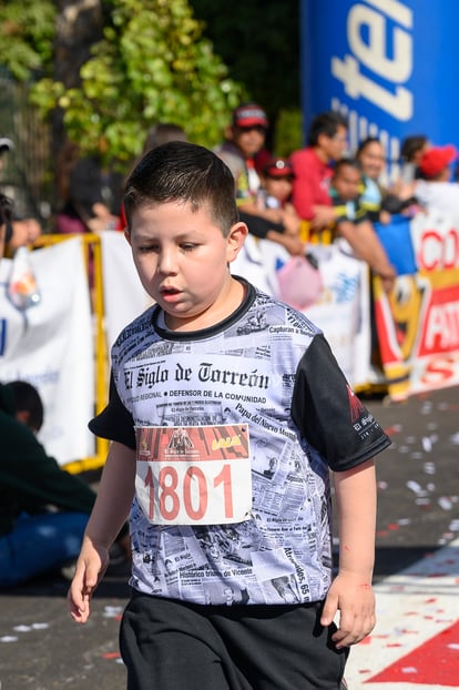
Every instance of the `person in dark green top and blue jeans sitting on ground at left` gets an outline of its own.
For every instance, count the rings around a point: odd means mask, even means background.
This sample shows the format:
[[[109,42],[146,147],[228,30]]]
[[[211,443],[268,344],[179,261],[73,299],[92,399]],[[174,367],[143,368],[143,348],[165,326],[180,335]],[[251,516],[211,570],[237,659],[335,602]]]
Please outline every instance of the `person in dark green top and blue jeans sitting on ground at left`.
[[[31,384],[0,384],[0,587],[75,559],[95,500],[88,484],[47,455],[35,437],[42,423]],[[126,554],[125,531],[119,539],[118,554]]]

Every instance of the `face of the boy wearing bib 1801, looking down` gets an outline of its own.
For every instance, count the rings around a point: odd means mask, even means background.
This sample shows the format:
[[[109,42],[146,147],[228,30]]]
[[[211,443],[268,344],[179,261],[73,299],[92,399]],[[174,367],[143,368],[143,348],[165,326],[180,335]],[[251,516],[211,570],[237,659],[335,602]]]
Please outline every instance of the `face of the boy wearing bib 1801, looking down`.
[[[246,234],[246,225],[236,223],[224,237],[207,209],[193,212],[190,203],[134,211],[126,235],[134,264],[143,287],[166,313],[169,328],[206,328],[236,308],[228,264]]]

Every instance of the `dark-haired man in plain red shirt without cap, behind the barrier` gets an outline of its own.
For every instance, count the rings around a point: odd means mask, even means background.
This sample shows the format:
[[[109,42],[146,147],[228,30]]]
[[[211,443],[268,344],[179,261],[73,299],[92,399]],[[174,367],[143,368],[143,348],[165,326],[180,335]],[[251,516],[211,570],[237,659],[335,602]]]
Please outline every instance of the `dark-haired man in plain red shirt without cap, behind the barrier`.
[[[295,173],[293,205],[300,219],[310,221],[313,230],[323,230],[335,221],[329,194],[332,163],[341,158],[346,142],[346,119],[337,112],[325,112],[310,123],[307,148],[290,155]]]

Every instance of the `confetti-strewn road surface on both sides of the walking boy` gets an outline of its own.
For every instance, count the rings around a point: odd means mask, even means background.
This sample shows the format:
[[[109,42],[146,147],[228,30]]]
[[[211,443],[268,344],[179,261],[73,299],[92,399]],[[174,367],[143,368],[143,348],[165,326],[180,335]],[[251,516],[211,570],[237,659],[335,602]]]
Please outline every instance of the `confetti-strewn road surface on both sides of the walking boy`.
[[[353,648],[349,690],[459,688],[459,388],[365,403],[392,446],[377,461],[378,623]],[[1,690],[125,689],[125,577],[104,580],[85,626],[67,589],[55,575],[0,592]]]

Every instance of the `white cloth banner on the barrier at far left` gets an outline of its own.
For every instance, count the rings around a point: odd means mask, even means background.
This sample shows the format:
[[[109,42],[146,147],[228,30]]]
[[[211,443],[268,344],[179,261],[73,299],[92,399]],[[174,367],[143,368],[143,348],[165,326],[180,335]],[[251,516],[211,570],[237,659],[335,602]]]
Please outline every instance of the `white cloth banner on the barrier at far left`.
[[[43,400],[40,442],[67,464],[93,455],[92,316],[81,241],[30,252],[40,302],[26,311],[7,295],[12,261],[0,262],[0,380],[33,384]]]

